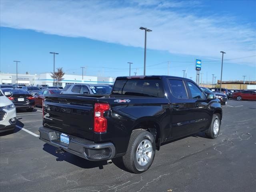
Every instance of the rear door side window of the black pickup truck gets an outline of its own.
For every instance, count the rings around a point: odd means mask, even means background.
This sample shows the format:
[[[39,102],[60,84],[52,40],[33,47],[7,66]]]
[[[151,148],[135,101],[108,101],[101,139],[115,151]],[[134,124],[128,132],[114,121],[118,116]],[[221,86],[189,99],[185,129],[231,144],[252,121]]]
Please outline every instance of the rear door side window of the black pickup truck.
[[[187,99],[188,94],[182,80],[169,80],[172,95],[179,99]]]

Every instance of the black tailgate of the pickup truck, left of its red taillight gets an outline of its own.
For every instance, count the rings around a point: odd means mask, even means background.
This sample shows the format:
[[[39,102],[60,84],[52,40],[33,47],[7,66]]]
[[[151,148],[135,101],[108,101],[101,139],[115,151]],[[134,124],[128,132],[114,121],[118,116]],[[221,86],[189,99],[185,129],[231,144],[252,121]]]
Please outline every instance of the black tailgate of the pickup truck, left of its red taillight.
[[[46,96],[43,125],[60,132],[93,140],[94,102],[84,96]]]

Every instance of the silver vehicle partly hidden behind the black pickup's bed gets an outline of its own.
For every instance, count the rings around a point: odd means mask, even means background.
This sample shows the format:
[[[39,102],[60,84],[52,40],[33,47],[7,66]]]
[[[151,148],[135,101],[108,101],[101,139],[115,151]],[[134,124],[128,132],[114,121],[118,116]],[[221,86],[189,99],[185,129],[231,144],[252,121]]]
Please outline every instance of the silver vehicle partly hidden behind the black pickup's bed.
[[[110,94],[112,90],[110,86],[101,84],[72,84],[67,90],[65,88],[61,94]]]

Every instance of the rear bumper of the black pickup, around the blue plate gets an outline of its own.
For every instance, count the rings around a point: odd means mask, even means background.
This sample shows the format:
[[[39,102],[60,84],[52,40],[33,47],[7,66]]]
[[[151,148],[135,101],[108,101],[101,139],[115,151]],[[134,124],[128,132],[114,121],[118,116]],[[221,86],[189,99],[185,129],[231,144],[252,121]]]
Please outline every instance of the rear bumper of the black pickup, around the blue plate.
[[[46,127],[40,127],[39,132],[40,140],[90,161],[109,160],[114,158],[116,153],[116,148],[111,142],[95,143],[84,138],[68,135],[70,142],[65,144],[60,142],[62,132]]]

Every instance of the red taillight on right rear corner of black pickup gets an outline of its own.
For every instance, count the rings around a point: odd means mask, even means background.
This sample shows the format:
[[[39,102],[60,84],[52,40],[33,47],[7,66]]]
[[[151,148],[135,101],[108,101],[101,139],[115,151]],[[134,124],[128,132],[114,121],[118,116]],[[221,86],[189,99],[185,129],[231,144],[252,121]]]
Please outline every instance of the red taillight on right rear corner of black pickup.
[[[104,117],[104,112],[110,109],[107,103],[96,103],[94,105],[94,132],[103,133],[107,131],[107,119]]]

